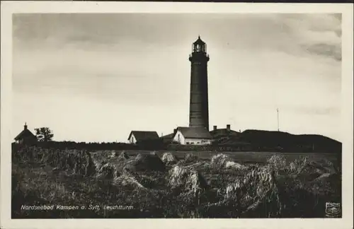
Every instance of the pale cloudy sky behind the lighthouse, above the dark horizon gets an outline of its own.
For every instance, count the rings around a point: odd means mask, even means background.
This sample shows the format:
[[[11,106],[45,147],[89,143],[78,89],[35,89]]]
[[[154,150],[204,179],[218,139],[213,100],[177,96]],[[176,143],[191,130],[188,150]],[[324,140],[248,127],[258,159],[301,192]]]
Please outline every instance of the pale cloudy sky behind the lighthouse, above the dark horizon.
[[[341,15],[13,15],[15,137],[126,142],[189,122],[190,62],[207,43],[210,129],[278,129],[341,141]]]

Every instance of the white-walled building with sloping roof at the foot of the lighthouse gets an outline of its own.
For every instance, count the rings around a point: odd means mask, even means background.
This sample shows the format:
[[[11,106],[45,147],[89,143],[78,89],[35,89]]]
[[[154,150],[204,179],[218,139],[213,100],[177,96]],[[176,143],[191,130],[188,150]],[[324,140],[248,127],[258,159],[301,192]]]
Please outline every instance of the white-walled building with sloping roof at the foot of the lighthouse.
[[[173,131],[173,142],[182,145],[210,145],[212,136],[204,127],[177,127]]]

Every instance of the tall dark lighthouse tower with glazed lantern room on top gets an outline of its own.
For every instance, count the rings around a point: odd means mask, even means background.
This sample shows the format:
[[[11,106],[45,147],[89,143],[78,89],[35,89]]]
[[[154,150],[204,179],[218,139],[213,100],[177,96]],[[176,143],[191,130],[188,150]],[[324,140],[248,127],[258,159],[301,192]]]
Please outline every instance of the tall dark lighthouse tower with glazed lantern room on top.
[[[209,106],[207,96],[207,45],[198,37],[189,55],[190,110],[189,127],[205,127],[209,131]]]

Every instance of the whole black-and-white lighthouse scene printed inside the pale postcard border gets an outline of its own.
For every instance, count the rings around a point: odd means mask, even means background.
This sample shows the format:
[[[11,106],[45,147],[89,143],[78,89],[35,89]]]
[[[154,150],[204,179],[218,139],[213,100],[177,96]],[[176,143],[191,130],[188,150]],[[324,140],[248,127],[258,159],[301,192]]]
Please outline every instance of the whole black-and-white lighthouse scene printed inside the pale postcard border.
[[[342,20],[12,13],[11,219],[342,218]]]

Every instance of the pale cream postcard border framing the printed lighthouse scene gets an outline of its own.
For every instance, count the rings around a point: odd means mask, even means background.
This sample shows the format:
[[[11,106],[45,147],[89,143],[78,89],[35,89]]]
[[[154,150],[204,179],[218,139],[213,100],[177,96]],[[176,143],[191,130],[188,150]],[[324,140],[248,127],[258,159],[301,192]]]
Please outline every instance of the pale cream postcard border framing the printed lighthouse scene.
[[[11,220],[13,13],[342,13],[343,218]],[[353,4],[1,1],[1,228],[353,228]]]

